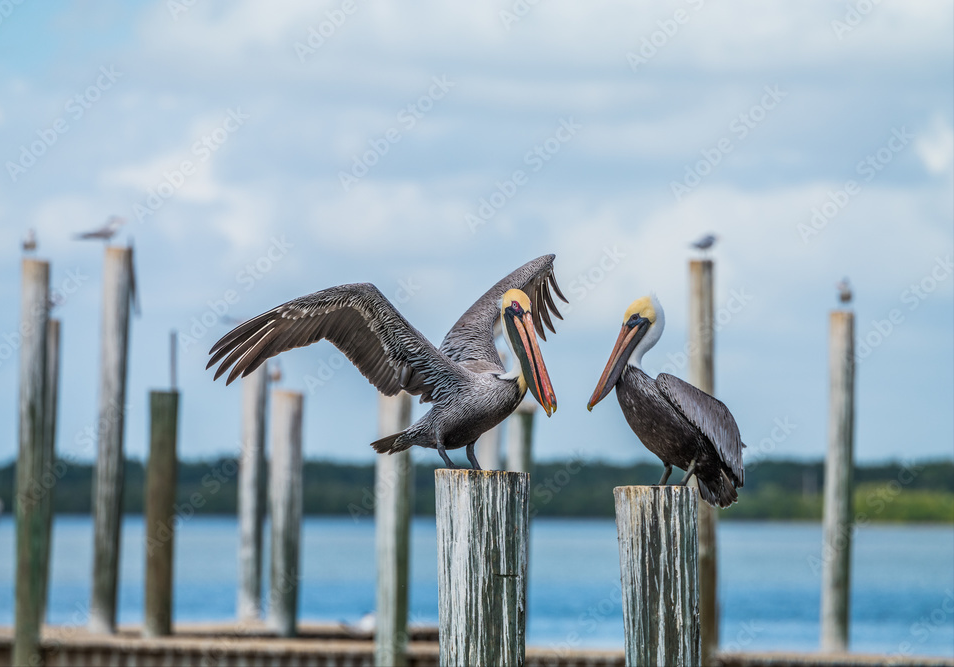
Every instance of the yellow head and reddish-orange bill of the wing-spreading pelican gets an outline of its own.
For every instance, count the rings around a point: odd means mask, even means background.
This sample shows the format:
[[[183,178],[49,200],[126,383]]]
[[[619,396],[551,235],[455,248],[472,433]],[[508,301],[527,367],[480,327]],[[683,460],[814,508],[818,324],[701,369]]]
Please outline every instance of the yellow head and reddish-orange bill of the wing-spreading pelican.
[[[508,290],[503,295],[500,321],[503,323],[504,338],[516,363],[509,373],[500,377],[504,380],[517,380],[521,391],[529,389],[549,417],[556,412],[556,394],[553,393],[553,385],[537,345],[531,308],[530,297],[521,290]]]

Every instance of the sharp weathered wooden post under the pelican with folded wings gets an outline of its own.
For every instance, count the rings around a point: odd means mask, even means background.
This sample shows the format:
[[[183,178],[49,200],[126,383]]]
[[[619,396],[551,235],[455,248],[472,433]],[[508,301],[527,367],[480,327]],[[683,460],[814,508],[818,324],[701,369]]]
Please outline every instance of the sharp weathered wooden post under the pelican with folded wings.
[[[697,509],[689,486],[618,486],[626,665],[700,662]]]

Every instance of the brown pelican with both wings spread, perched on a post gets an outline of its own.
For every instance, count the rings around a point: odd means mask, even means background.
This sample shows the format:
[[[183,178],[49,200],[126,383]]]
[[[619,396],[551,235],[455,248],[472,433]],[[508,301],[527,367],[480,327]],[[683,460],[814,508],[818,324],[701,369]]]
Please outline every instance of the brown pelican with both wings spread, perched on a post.
[[[550,287],[566,302],[553,275],[554,255],[524,264],[491,287],[434,347],[371,284],[339,285],[282,304],[239,325],[217,342],[207,368],[222,360],[215,378],[232,367],[226,384],[258,368],[266,359],[323,338],[332,342],[378,391],[406,391],[434,406],[401,433],[371,443],[379,453],[414,445],[436,449],[456,468],[448,449],[467,448],[480,469],[474,442],[520,404],[527,389],[547,416],[556,395],[537,345],[546,340],[550,313],[560,319]],[[533,301],[527,294],[533,295]],[[514,359],[503,367],[494,345],[500,321]],[[536,332],[536,333],[535,333]]]

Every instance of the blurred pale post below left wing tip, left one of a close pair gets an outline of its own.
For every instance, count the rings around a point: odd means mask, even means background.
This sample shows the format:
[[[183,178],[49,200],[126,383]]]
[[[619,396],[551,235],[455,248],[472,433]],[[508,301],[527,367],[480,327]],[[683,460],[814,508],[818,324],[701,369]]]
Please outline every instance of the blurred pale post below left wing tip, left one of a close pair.
[[[267,385],[268,368],[265,364],[242,380],[242,456],[238,486],[240,621],[261,616]]]

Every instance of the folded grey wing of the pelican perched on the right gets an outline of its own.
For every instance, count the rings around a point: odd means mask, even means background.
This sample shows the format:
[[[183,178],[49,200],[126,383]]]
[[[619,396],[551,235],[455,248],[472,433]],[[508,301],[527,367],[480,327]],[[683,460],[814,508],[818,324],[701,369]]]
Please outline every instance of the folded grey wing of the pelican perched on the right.
[[[739,425],[725,403],[669,373],[660,373],[656,386],[666,400],[715,445],[736,486],[741,487],[745,479],[742,470],[742,448],[745,445],[742,444]]]

